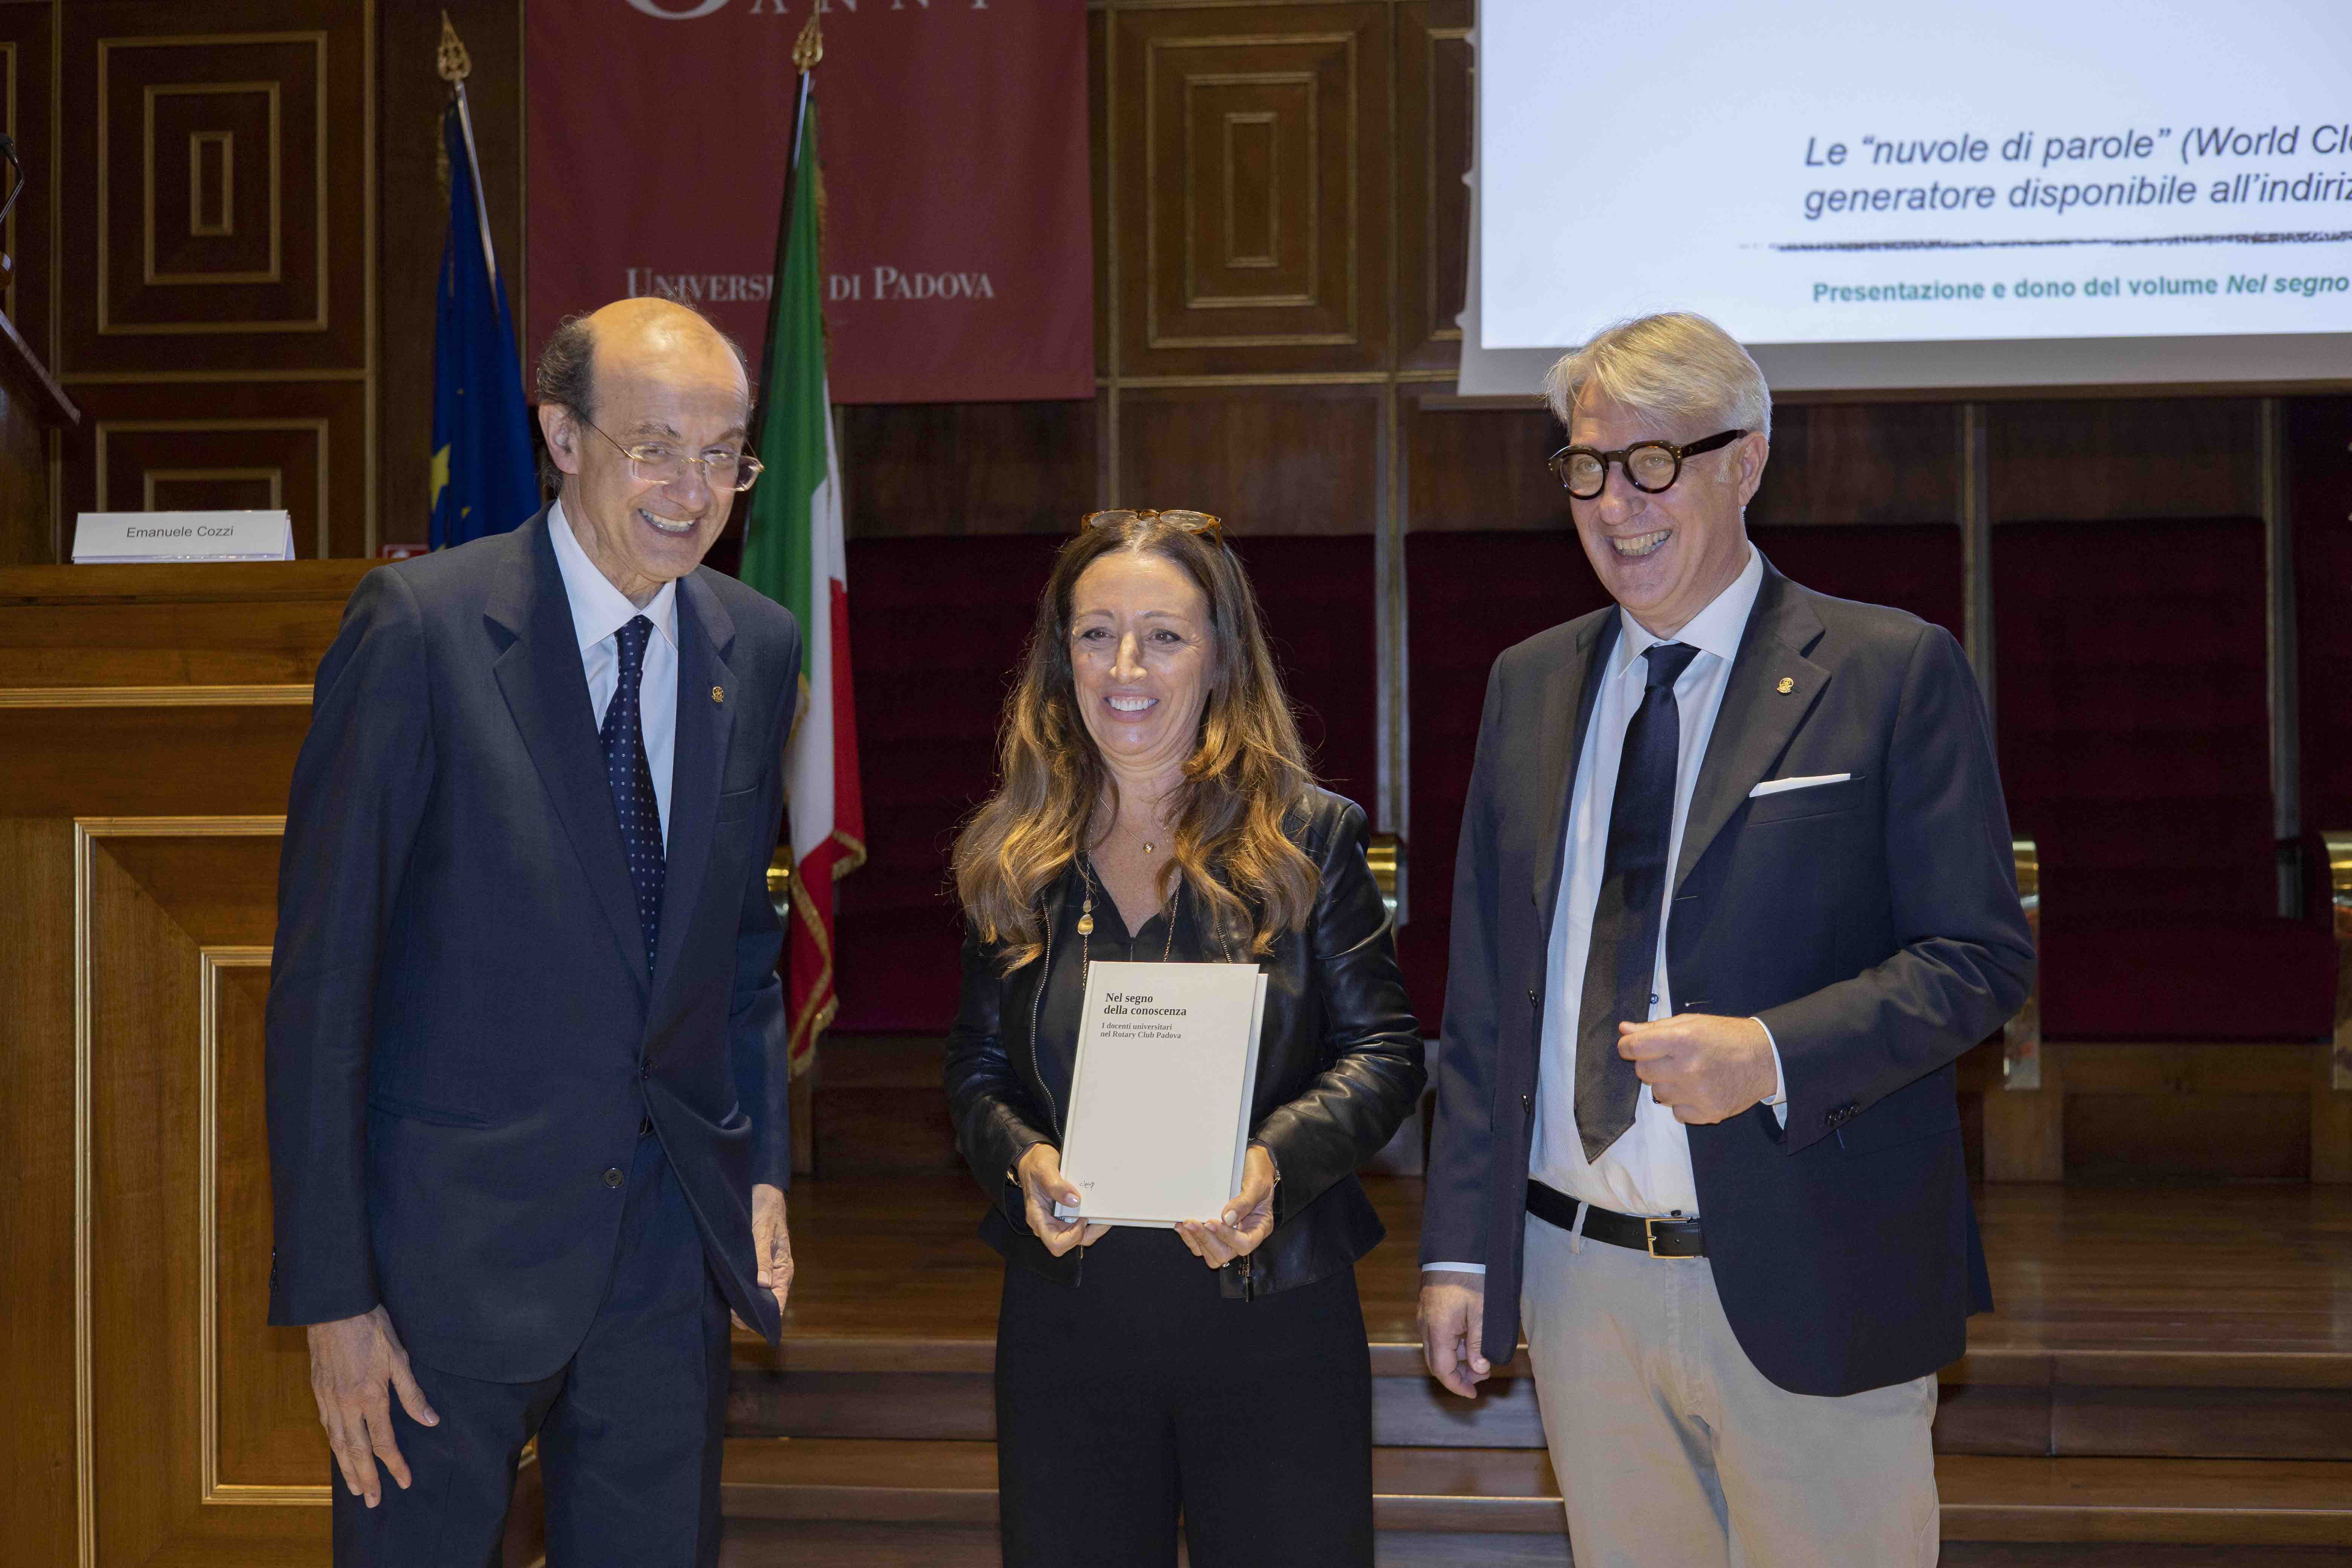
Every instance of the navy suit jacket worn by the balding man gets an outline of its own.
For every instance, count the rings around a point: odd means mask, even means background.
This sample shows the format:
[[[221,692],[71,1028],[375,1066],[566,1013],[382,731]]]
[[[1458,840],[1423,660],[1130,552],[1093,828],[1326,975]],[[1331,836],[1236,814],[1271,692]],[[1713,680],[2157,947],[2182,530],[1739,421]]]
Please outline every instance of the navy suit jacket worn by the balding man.
[[[727,1305],[776,1335],[750,1185],[790,1178],[767,900],[793,616],[677,583],[661,952],[546,512],[367,574],[318,668],[268,1001],[270,1321],[390,1309],[466,1378],[569,1359],[652,1117]]]

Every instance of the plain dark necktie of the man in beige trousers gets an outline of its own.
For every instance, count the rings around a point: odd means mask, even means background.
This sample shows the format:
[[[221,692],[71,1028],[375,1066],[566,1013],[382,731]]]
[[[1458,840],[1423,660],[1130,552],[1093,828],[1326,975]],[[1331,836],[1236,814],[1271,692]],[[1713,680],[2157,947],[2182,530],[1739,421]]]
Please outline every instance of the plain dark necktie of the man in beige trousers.
[[[1609,856],[1592,905],[1592,952],[1585,999],[1576,1013],[1576,1133],[1585,1159],[1632,1126],[1642,1079],[1618,1056],[1618,1020],[1642,1023],[1658,983],[1658,926],[1665,919],[1665,849],[1675,835],[1675,766],[1682,710],[1675,682],[1698,658],[1686,642],[1644,649],[1649,689],[1625,726],[1616,802],[1609,806]]]

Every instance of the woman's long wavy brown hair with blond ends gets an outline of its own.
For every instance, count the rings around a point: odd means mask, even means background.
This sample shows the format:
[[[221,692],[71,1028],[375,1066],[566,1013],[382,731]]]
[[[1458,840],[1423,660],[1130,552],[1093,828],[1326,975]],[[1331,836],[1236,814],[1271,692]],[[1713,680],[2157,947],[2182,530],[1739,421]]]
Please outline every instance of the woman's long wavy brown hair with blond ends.
[[[1181,877],[1209,929],[1247,933],[1254,954],[1303,929],[1315,907],[1319,872],[1284,832],[1308,804],[1315,771],[1242,562],[1218,538],[1162,517],[1105,517],[1054,557],[1021,677],[1004,698],[997,792],[955,839],[955,893],[981,940],[1002,943],[1004,973],[1044,947],[1037,893],[1098,837],[1096,811],[1117,788],[1077,712],[1070,670],[1077,578],[1115,550],[1176,562],[1209,602],[1209,693],[1176,785],[1160,900]]]

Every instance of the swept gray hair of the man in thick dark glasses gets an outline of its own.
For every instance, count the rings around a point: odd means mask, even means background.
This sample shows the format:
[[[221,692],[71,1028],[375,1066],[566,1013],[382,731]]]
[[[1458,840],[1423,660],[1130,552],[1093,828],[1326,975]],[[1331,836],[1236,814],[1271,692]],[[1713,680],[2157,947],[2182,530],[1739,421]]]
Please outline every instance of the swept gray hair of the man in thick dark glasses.
[[[1595,393],[1637,414],[1677,423],[1755,430],[1771,440],[1771,388],[1738,339],[1691,310],[1637,315],[1604,327],[1559,357],[1543,400],[1566,425],[1576,400]],[[1715,430],[1689,430],[1691,437]]]

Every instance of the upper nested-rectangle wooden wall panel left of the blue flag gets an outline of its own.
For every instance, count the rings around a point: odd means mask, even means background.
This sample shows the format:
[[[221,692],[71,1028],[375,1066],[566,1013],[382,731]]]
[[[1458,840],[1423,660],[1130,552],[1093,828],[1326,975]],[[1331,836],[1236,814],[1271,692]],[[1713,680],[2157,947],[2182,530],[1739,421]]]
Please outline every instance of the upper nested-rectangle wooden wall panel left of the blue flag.
[[[369,9],[66,7],[64,369],[367,364]]]

